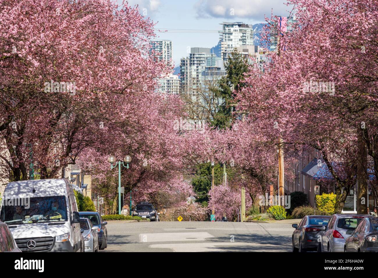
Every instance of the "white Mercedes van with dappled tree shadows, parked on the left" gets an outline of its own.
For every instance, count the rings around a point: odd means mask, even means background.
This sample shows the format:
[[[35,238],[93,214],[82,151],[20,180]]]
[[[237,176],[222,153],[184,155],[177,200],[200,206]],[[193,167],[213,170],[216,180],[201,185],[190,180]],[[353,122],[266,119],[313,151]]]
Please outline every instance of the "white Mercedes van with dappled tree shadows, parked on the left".
[[[84,252],[76,198],[66,179],[10,182],[2,197],[0,221],[22,252]]]

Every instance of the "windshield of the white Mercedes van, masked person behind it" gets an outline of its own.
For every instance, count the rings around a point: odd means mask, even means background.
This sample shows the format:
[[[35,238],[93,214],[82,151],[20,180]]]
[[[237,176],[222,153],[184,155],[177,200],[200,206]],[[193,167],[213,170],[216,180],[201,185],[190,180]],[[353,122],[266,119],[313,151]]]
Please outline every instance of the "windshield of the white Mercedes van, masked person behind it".
[[[65,196],[4,199],[1,221],[8,225],[67,221]]]

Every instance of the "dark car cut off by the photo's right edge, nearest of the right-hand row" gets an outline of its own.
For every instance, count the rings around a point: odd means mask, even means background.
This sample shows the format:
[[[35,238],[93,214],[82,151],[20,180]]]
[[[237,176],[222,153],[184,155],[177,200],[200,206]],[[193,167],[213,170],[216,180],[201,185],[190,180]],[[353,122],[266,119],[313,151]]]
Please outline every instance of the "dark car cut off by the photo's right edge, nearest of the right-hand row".
[[[378,217],[365,217],[347,235],[344,252],[378,252]]]

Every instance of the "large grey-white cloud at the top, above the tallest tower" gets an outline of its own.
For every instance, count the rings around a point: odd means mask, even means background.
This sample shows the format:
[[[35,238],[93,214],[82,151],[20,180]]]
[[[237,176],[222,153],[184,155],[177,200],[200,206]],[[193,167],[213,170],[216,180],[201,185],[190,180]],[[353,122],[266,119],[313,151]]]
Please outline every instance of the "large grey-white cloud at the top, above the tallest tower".
[[[285,0],[198,0],[194,8],[198,18],[248,18],[264,20],[264,15],[287,16],[292,6],[286,6]],[[289,12],[287,12],[289,11]]]

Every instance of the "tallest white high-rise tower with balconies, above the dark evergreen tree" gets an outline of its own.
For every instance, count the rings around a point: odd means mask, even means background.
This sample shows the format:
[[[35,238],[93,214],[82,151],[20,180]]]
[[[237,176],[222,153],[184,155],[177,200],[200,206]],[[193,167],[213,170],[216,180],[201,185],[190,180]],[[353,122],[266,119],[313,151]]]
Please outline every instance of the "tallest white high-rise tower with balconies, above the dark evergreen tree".
[[[227,61],[229,53],[243,45],[253,45],[253,26],[243,22],[223,22],[219,31],[220,53],[223,61]]]

